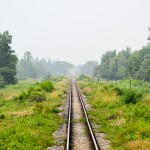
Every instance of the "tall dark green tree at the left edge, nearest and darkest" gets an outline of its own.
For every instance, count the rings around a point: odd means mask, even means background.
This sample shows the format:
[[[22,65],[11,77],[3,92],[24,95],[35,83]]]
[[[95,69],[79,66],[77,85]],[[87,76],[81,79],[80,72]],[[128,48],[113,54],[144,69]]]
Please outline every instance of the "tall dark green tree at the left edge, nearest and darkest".
[[[5,84],[15,84],[17,56],[11,49],[12,36],[8,31],[0,33],[0,76]]]

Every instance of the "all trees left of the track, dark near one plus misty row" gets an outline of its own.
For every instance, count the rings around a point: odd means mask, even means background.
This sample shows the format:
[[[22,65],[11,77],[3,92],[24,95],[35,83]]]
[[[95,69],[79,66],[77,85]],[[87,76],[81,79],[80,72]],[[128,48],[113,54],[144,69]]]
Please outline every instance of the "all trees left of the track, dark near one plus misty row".
[[[12,35],[8,31],[0,33],[0,88],[16,84],[18,79],[66,75],[68,69],[74,66],[65,61],[34,59],[29,51],[26,51],[19,60],[10,46],[11,43]]]

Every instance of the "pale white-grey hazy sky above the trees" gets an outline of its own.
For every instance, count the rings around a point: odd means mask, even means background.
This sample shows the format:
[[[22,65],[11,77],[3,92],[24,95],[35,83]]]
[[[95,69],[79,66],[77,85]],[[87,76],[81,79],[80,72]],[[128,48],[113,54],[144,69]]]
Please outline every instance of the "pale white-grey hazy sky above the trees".
[[[0,0],[0,32],[19,57],[83,64],[108,50],[147,44],[150,0]]]

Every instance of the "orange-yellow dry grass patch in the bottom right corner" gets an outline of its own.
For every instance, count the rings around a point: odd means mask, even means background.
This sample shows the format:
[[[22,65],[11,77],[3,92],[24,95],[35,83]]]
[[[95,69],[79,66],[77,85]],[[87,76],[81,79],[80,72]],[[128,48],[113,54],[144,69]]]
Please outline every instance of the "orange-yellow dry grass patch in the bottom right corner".
[[[150,150],[150,142],[143,140],[130,141],[125,145],[127,150]]]

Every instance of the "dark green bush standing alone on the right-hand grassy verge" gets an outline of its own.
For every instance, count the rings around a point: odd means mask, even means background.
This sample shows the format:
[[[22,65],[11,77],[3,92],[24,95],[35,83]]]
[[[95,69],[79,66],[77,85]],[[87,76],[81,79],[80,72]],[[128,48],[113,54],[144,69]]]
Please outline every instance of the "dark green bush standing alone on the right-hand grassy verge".
[[[121,100],[125,104],[129,104],[129,103],[135,104],[141,100],[142,96],[143,96],[143,94],[139,91],[136,91],[134,89],[132,89],[132,90],[126,89],[123,92]]]

